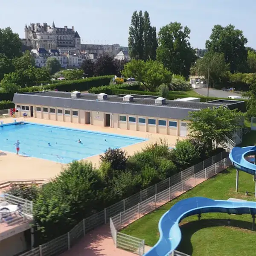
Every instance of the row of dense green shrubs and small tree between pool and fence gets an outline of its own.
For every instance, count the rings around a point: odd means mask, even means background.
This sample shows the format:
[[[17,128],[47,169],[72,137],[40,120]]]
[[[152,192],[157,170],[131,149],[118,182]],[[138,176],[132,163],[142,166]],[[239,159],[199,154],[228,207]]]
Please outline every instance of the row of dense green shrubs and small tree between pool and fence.
[[[9,193],[34,201],[36,243],[44,243],[67,233],[83,218],[223,150],[218,144],[239,128],[240,116],[225,108],[194,111],[189,115],[191,137],[177,141],[173,150],[165,141],[133,156],[109,148],[100,157],[99,168],[75,161],[42,189],[15,186]]]

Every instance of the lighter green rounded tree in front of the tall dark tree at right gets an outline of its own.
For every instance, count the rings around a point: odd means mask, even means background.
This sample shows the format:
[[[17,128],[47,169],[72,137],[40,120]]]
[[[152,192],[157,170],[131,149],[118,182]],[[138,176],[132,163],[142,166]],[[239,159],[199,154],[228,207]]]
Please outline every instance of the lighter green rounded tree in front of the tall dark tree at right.
[[[191,68],[192,69],[192,68]],[[209,71],[209,85],[214,87],[220,84],[227,71],[229,65],[225,63],[223,53],[207,52],[203,58],[200,58],[195,63],[196,75],[208,78]]]

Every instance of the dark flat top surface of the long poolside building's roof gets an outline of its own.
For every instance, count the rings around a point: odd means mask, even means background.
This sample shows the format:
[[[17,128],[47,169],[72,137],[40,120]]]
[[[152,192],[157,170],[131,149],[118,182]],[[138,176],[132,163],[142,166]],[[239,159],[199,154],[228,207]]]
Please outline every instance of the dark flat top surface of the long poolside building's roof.
[[[34,95],[40,97],[53,97],[53,98],[64,98],[64,99],[74,99],[71,97],[71,92],[60,92],[60,91],[43,91],[43,92],[34,92],[34,93],[18,93],[18,94],[26,94],[26,95]],[[150,98],[137,98],[135,95],[133,102],[124,102],[122,97],[111,96],[108,95],[108,99],[102,100],[104,102],[119,102],[124,104],[141,104],[141,105],[157,105],[155,104],[155,99]],[[140,95],[138,95],[140,96]],[[79,98],[75,98],[74,100],[90,100],[90,101],[99,101],[98,94],[93,93],[81,93]],[[212,105],[216,107],[221,106],[223,104],[214,103],[207,104],[205,102],[179,102],[175,100],[166,100],[166,104],[161,105],[163,107],[169,108],[188,108],[188,109],[204,109],[204,108],[212,108]]]

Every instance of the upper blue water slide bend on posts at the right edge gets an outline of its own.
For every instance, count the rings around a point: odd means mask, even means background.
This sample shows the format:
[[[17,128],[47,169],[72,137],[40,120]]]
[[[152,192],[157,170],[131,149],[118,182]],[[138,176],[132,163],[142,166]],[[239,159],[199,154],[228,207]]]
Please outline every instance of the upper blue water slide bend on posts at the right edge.
[[[253,156],[256,154],[256,146],[249,146],[249,147],[235,147],[229,154],[229,158],[233,164],[233,166],[241,170],[243,172],[247,172],[251,175],[256,174],[256,165],[250,160],[246,159],[248,156]],[[251,158],[254,162],[254,157]]]

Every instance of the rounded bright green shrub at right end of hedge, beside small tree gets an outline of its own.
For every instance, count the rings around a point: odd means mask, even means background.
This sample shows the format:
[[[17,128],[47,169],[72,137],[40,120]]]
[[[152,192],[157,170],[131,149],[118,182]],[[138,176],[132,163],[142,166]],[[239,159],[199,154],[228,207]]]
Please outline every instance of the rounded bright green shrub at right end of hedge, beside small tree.
[[[198,148],[189,140],[177,140],[175,148],[172,150],[172,160],[179,169],[186,169],[197,163],[198,156]]]

